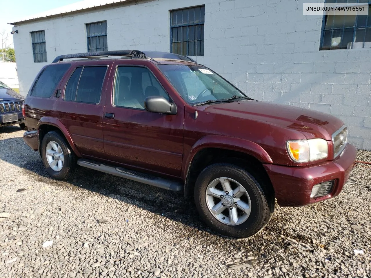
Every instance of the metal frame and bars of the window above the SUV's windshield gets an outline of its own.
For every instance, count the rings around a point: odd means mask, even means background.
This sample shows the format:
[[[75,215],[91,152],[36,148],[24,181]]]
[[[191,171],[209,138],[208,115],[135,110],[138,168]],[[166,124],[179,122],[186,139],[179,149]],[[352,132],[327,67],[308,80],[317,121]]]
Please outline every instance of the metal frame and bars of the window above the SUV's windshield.
[[[193,9],[193,8],[197,8],[197,7],[200,7],[200,8],[203,7],[204,8],[204,21],[203,22],[201,22],[201,10],[200,10],[200,22],[199,23],[189,23],[189,11],[188,11],[188,20],[187,20],[187,23],[184,23],[184,24],[175,24],[175,25],[172,25],[171,24],[172,23],[172,13],[173,12],[183,11],[183,10],[187,10],[187,9]],[[169,22],[170,22],[170,24],[169,24],[169,26],[170,26],[170,53],[174,53],[174,54],[178,54],[178,55],[183,55],[181,53],[175,53],[175,52],[173,52],[173,47],[172,47],[172,43],[173,43],[173,29],[176,29],[177,27],[187,27],[187,40],[186,41],[184,41],[184,40],[181,41],[181,43],[183,43],[183,42],[186,42],[187,43],[187,53],[184,56],[204,56],[204,54],[205,54],[204,53],[205,35],[204,34],[202,35],[200,33],[200,39],[199,40],[195,40],[195,39],[189,40],[189,31],[188,31],[189,29],[188,29],[188,26],[199,26],[199,28],[201,29],[201,25],[203,25],[204,26],[204,28],[203,28],[204,32],[203,33],[205,33],[205,5],[197,5],[197,6],[180,8],[180,9],[173,9],[173,10],[169,10],[169,12],[170,12],[170,20],[169,20]],[[203,39],[201,39],[201,37],[203,37]],[[188,47],[189,42],[193,42],[193,43],[200,42],[200,55],[189,55],[189,47]],[[201,42],[203,42],[202,49],[201,49]],[[175,43],[178,43],[178,42],[175,42]]]

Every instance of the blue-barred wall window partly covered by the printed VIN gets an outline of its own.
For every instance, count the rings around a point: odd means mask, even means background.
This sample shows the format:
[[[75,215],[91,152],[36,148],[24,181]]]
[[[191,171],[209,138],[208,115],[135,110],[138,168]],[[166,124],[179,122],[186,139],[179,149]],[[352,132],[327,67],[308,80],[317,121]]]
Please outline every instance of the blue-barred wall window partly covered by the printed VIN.
[[[368,15],[324,16],[320,50],[371,47],[371,0],[326,0],[326,3],[369,3]]]

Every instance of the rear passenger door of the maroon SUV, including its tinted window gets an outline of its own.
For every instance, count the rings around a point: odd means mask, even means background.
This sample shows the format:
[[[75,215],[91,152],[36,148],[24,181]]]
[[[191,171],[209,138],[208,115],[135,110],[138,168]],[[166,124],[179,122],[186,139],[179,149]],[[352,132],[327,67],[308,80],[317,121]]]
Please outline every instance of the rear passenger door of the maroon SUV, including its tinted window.
[[[83,156],[104,155],[102,115],[110,64],[76,65],[56,107],[56,115],[69,130]]]

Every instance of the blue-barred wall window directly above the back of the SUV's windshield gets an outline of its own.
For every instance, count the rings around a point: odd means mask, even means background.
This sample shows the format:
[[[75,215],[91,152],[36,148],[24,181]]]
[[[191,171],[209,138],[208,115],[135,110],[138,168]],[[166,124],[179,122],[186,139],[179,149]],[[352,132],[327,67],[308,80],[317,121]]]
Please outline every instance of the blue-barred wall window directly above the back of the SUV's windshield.
[[[203,56],[205,6],[170,11],[170,52]]]

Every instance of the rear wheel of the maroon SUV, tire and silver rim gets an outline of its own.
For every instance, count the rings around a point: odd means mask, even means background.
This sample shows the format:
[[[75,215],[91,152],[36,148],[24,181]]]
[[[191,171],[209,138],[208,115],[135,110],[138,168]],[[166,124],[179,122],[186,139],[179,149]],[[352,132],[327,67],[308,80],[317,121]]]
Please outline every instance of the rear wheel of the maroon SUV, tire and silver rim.
[[[46,171],[52,178],[66,180],[75,172],[76,155],[58,132],[46,133],[41,143],[41,155]]]

